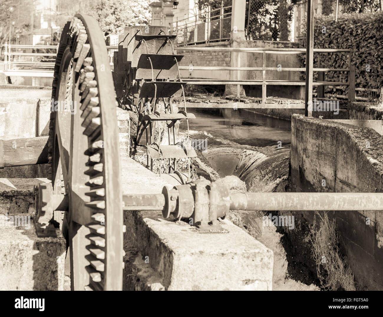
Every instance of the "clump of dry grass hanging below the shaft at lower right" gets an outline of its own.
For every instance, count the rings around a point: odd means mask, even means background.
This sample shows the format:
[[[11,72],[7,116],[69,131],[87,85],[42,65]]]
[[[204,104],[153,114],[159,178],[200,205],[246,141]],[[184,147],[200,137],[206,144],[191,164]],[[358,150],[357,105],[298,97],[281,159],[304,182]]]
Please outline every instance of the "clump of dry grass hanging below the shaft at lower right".
[[[315,212],[310,226],[313,258],[321,285],[326,290],[355,291],[354,274],[339,250],[335,219],[327,213]]]

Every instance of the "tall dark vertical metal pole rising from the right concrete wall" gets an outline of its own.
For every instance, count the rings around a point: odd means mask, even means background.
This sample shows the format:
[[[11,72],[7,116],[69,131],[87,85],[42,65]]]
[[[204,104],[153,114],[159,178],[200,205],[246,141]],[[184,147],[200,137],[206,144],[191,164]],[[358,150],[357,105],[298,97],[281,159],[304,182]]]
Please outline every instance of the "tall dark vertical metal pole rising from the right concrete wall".
[[[314,0],[307,1],[306,28],[306,93],[304,96],[304,115],[312,117],[313,106],[313,59],[314,59]],[[308,105],[311,105],[310,111]]]

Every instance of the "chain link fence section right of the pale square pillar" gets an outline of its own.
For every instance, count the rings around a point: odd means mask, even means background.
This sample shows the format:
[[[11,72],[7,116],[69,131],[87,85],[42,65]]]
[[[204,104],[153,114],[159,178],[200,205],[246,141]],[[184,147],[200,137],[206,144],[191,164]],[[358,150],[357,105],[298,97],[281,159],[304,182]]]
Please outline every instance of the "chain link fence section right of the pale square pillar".
[[[294,41],[291,0],[248,0],[246,12],[246,39]]]

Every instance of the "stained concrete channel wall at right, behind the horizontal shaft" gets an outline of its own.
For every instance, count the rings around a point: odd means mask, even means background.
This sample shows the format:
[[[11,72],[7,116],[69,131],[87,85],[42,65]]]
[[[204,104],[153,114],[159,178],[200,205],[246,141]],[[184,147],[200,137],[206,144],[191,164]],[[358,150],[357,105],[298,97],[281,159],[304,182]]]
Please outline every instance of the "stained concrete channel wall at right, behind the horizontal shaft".
[[[383,137],[375,130],[292,116],[290,178],[297,192],[383,192]],[[322,180],[326,185],[322,186]],[[312,212],[301,212],[309,222]],[[331,212],[360,289],[383,287],[383,212]]]

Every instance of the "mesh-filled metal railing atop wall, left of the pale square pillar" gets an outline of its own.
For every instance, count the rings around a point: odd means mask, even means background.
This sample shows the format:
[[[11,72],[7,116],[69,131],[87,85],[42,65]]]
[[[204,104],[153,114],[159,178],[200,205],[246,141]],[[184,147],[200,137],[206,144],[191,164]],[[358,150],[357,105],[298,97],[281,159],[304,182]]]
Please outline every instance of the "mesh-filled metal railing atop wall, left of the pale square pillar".
[[[177,45],[227,41],[231,31],[231,6],[208,10],[173,22]]]

